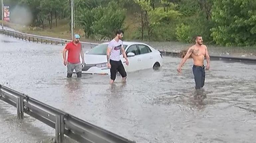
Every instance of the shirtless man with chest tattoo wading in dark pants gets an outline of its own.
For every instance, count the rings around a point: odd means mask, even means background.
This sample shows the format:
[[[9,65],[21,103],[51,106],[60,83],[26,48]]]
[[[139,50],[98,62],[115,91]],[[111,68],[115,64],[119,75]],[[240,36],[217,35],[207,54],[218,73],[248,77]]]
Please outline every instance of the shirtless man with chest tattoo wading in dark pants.
[[[204,72],[204,57],[206,58],[207,65],[205,67],[206,70],[210,68],[210,56],[207,51],[207,47],[203,45],[202,36],[198,35],[195,37],[195,45],[189,48],[187,54],[182,59],[177,71],[181,72],[181,67],[185,64],[189,57],[193,58],[193,75],[195,81],[195,89],[200,89],[204,86],[205,72]]]

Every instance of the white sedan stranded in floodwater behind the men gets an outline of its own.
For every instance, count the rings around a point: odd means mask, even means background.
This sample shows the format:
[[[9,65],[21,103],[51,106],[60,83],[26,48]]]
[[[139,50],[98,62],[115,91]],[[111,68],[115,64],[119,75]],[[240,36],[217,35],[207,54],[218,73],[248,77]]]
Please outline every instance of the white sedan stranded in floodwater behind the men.
[[[137,42],[123,42],[123,45],[130,63],[128,66],[124,63],[125,58],[123,58],[123,54],[120,50],[120,58],[126,72],[150,68],[155,69],[162,66],[162,54],[151,46]],[[110,74],[110,69],[107,68],[107,46],[108,43],[102,43],[95,46],[90,51],[86,51],[84,55],[85,65],[82,67],[82,73]]]

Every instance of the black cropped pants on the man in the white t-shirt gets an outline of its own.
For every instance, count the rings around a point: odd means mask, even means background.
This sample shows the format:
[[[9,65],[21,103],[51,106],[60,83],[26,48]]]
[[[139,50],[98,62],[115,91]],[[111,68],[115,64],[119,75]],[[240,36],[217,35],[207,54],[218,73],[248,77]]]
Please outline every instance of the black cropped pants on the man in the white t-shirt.
[[[116,79],[117,72],[119,72],[123,78],[127,76],[121,60],[119,60],[119,61],[110,60],[110,65],[111,65],[111,68],[110,68],[110,79],[111,80],[114,81]]]

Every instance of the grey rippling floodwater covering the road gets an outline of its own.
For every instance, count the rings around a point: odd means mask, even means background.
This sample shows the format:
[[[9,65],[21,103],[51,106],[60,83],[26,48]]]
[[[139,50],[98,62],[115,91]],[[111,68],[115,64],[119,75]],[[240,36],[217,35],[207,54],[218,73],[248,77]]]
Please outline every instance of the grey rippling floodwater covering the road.
[[[138,143],[256,142],[255,64],[211,61],[195,93],[192,60],[178,75],[181,59],[164,57],[159,71],[110,86],[106,75],[67,79],[62,49],[0,35],[1,84]],[[54,129],[15,112],[0,101],[0,142],[52,142]]]

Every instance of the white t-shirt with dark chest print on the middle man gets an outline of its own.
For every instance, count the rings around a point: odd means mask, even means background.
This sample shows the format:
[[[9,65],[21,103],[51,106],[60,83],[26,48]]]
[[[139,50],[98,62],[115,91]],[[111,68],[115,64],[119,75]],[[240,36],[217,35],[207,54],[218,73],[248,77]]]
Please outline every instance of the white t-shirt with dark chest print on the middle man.
[[[110,59],[114,61],[119,61],[120,59],[120,49],[123,47],[122,40],[116,42],[115,39],[111,40],[108,44],[108,47],[111,48]]]

